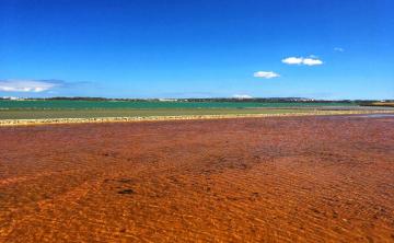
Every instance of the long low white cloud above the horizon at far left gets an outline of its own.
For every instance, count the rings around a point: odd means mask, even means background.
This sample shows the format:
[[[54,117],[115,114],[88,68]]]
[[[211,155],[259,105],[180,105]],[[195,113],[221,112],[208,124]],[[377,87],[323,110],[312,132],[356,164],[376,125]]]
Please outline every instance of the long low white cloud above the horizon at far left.
[[[61,84],[58,80],[0,80],[0,91],[43,92]]]

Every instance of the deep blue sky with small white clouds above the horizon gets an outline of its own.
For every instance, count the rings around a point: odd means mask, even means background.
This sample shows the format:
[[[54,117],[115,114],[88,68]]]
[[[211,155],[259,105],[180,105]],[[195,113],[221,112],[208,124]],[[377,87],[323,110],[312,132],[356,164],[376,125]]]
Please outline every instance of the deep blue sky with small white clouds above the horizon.
[[[392,0],[1,0],[0,96],[394,99]]]

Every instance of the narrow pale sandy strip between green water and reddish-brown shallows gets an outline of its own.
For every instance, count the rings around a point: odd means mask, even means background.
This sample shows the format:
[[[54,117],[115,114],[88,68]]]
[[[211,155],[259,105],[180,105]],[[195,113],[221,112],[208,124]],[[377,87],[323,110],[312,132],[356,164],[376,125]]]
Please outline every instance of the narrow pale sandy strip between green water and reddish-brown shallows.
[[[229,119],[229,118],[263,118],[288,116],[324,116],[324,115],[362,115],[394,114],[394,111],[313,111],[303,113],[281,114],[229,114],[229,115],[178,115],[178,116],[134,116],[134,117],[94,117],[94,118],[42,118],[42,119],[0,119],[0,127],[60,125],[60,124],[96,124],[96,123],[136,123],[190,119]]]

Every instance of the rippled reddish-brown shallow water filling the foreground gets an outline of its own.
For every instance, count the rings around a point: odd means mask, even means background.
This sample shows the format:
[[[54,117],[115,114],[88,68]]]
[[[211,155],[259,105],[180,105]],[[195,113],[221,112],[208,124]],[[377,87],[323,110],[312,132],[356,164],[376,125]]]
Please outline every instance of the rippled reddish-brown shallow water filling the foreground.
[[[394,242],[394,118],[0,128],[2,242]]]

